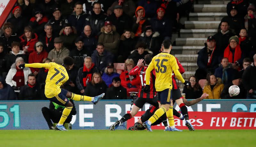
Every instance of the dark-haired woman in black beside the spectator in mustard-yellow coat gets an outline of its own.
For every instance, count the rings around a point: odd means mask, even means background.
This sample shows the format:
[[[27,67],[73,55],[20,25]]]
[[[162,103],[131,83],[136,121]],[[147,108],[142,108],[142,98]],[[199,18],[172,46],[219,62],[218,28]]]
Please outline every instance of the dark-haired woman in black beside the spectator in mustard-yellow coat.
[[[196,99],[200,97],[203,93],[202,88],[200,87],[198,80],[194,75],[189,77],[189,81],[191,83],[191,87],[184,86],[183,92],[186,94],[186,99]]]

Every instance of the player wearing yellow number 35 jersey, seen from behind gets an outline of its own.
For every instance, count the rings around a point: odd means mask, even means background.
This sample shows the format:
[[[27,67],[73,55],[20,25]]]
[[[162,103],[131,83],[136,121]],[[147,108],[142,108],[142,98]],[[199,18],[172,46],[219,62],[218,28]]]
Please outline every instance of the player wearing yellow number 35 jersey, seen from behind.
[[[153,116],[151,116],[148,121],[146,121],[145,127],[148,131],[152,131],[151,124],[156,122],[164,113],[166,113],[167,118],[172,118],[172,109],[169,109],[171,104],[171,89],[172,89],[172,71],[176,75],[177,79],[183,84],[191,86],[189,81],[185,81],[180,72],[177,61],[173,55],[170,54],[172,49],[172,42],[169,39],[163,41],[161,50],[162,53],[157,54],[153,57],[152,61],[148,65],[146,70],[146,86],[142,89],[143,92],[148,92],[150,90],[149,80],[150,72],[156,70],[156,82],[155,88],[158,92],[160,98],[161,108],[157,109]],[[189,123],[186,121],[186,123]]]

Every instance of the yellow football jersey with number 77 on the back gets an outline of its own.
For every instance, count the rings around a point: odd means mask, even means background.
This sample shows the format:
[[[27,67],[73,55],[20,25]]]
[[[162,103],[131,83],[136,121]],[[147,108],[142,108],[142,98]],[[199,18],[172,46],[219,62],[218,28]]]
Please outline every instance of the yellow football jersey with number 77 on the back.
[[[25,64],[25,67],[49,69],[46,80],[44,94],[47,98],[52,98],[60,93],[60,86],[68,81],[68,73],[62,65],[54,62]]]

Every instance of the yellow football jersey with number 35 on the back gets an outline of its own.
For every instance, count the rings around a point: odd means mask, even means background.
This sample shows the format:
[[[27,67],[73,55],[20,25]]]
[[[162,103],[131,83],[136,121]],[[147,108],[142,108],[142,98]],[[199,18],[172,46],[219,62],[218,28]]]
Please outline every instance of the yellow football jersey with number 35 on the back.
[[[172,89],[172,71],[179,69],[175,57],[169,53],[159,53],[153,57],[146,70],[146,84],[149,85],[150,71],[155,69],[156,91],[163,91],[164,89]]]

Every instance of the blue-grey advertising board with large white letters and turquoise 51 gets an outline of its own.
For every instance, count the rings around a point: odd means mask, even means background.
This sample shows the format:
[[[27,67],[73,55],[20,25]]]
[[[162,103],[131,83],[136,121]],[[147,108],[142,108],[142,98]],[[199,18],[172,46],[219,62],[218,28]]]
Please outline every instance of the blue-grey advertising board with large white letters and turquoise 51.
[[[73,115],[72,129],[108,129],[130,110],[131,100],[102,100],[97,105],[75,101],[75,106],[77,114]],[[145,104],[142,110],[147,110],[149,106]],[[49,101],[1,101],[0,129],[48,129],[42,107],[49,107]],[[174,108],[180,111],[176,104]],[[256,112],[256,100],[203,100],[188,107],[188,111]]]

